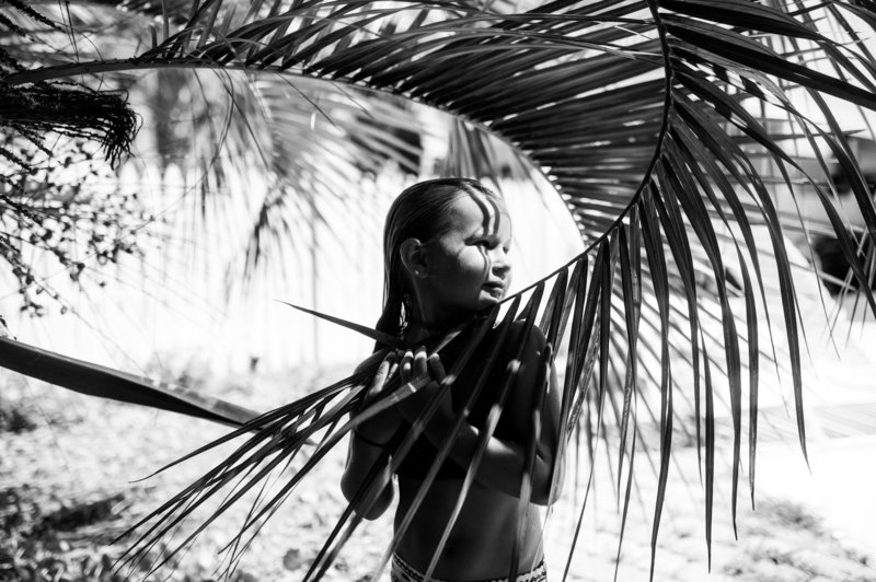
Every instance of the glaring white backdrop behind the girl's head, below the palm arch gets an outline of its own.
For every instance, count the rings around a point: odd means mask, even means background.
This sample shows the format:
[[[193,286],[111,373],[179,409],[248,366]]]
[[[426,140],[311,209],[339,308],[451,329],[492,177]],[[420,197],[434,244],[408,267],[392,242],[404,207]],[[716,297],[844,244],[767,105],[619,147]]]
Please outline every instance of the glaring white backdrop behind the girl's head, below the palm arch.
[[[134,173],[122,182],[142,184]],[[140,191],[145,203],[154,201],[159,217],[152,252],[142,259],[125,257],[99,278],[104,287],[89,286],[85,292],[67,286],[64,272],[58,273],[55,282],[72,307],[66,315],[47,304],[45,317],[20,317],[15,294],[0,298],[0,313],[9,314],[21,341],[177,380],[355,364],[371,351],[371,340],[281,302],[373,326],[383,291],[382,218],[408,183],[392,173],[364,183],[361,208],[316,200],[319,212],[333,217],[332,224],[299,224],[302,243],[296,252],[269,247],[274,254],[244,291],[240,266],[257,208],[247,208],[239,197],[217,200],[203,219],[174,214],[187,181],[171,166],[155,188],[160,195]],[[558,196],[515,182],[499,187],[515,223],[514,291],[568,261],[581,243]]]

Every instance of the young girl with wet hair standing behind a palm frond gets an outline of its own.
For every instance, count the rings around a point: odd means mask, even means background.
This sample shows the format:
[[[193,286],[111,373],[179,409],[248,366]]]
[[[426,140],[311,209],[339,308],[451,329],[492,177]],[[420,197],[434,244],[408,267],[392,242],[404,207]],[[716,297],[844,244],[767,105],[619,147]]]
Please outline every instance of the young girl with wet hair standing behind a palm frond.
[[[505,296],[510,282],[508,256],[511,225],[500,197],[473,179],[447,178],[416,184],[401,194],[387,217],[384,230],[385,288],[383,314],[378,329],[400,337],[412,350],[383,350],[383,358],[368,398],[385,396],[388,379],[397,370],[402,383],[423,385],[413,396],[359,424],[349,442],[342,490],[353,499],[366,484],[376,463],[382,463],[377,477],[373,503],[364,515],[373,520],[392,503],[395,485],[388,454],[393,455],[400,440],[417,421],[433,398],[443,394],[437,412],[423,429],[413,447],[397,465],[399,503],[396,535],[403,528],[393,556],[393,582],[419,582],[430,564],[430,580],[506,580],[517,545],[519,575],[515,580],[545,580],[542,554],[542,524],[539,505],[552,499],[554,472],[562,464],[555,458],[558,442],[560,395],[553,369],[545,374],[544,336],[535,327],[526,331],[523,322],[514,322],[486,383],[471,414],[457,434],[449,454],[438,469],[422,504],[410,524],[404,520],[414,504],[426,473],[447,440],[450,427],[465,406],[491,350],[499,340],[498,327],[491,328],[470,357],[449,391],[440,391],[450,370],[470,338],[471,326],[438,353],[427,353],[427,338],[463,326],[476,314],[488,312]],[[526,337],[525,337],[526,335]],[[522,351],[519,345],[525,341]],[[522,353],[518,359],[518,354]],[[493,403],[502,392],[506,369],[519,365],[504,403],[495,432],[487,442],[462,509],[437,562],[446,525],[462,490],[463,479],[477,447],[479,435]],[[418,383],[417,383],[418,382]],[[546,394],[543,392],[546,391]],[[532,432],[533,406],[542,401],[540,431],[531,472],[531,494],[523,512],[522,537],[518,523],[522,473],[528,466],[527,446]],[[373,401],[373,400],[371,400]],[[557,465],[555,467],[555,465]],[[557,482],[562,481],[562,475]],[[554,492],[555,493],[555,492]]]

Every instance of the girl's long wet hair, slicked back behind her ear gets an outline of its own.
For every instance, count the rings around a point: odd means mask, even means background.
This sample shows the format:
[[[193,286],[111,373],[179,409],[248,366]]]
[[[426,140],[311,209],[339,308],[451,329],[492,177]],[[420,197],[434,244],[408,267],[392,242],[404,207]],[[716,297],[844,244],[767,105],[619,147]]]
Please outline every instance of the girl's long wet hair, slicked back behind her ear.
[[[414,184],[392,202],[383,226],[383,313],[378,330],[400,336],[411,317],[413,291],[402,264],[402,243],[412,237],[428,241],[439,236],[448,228],[453,202],[479,195],[502,200],[476,179],[452,177]]]

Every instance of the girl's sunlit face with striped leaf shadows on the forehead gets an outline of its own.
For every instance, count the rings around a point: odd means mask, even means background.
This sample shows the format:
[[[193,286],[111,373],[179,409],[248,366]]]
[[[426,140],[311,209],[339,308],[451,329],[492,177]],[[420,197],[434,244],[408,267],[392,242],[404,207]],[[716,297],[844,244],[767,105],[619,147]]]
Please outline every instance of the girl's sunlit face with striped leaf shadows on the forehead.
[[[426,243],[420,305],[427,321],[453,321],[497,304],[510,286],[511,221],[485,196],[458,198],[448,228]]]

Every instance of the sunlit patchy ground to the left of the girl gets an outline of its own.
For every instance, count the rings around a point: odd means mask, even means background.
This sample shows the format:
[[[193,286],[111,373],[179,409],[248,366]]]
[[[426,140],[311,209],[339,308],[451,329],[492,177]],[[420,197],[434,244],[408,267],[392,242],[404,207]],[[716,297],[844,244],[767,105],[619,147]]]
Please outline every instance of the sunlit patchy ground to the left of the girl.
[[[285,374],[217,382],[212,394],[264,410],[323,382]],[[322,384],[319,384],[322,385]],[[297,388],[296,388],[297,386]],[[291,388],[291,389],[290,389]],[[209,468],[216,451],[173,470],[148,477],[228,429],[180,415],[82,396],[55,386],[0,373],[0,581],[106,582],[139,580],[164,548],[151,552],[135,572],[114,563],[126,542],[111,544],[161,501]],[[273,400],[273,401],[272,401]],[[336,482],[342,457],[326,459],[324,478]],[[333,485],[332,484],[332,485]],[[232,582],[300,578],[342,510],[339,489],[328,482],[302,492],[295,511],[275,516],[247,554]],[[295,500],[291,500],[295,503]],[[247,505],[220,520],[198,544],[150,580],[195,582],[216,578],[221,548]],[[189,523],[183,533],[196,525]],[[290,532],[296,532],[295,543]],[[378,551],[369,545],[369,551]],[[342,559],[336,580],[358,580],[367,563]]]

